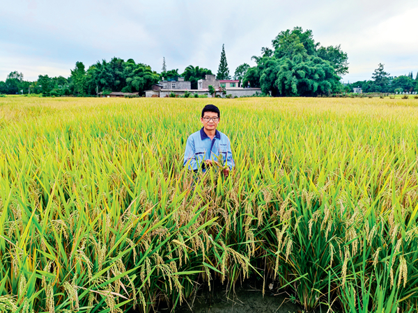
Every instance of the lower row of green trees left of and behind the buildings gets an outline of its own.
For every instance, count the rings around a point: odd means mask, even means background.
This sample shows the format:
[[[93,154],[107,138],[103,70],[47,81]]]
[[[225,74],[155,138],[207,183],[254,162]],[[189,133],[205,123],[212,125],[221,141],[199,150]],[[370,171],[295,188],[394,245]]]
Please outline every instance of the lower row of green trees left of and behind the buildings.
[[[39,75],[36,81],[25,81],[20,72],[11,72],[6,81],[0,81],[0,94],[42,94],[45,96],[61,95],[97,95],[97,93],[144,93],[161,79],[175,80],[185,77],[192,81],[192,88],[197,88],[197,81],[212,72],[206,68],[189,65],[183,73],[178,70],[153,71],[149,65],[135,63],[130,58],[112,58],[111,61],[98,61],[86,70],[82,62],[75,63],[70,77],[49,77]]]

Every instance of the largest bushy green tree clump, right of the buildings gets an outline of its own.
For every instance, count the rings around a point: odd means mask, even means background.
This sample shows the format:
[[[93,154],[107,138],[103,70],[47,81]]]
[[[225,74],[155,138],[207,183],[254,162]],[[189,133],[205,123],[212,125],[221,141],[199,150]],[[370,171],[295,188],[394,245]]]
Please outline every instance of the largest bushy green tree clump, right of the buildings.
[[[263,93],[272,95],[314,96],[342,90],[340,75],[348,72],[348,58],[339,46],[320,47],[312,31],[300,27],[281,31],[272,46],[273,50],[264,47],[261,56],[252,57],[257,65],[247,70],[244,86],[256,86],[254,79],[259,77]]]

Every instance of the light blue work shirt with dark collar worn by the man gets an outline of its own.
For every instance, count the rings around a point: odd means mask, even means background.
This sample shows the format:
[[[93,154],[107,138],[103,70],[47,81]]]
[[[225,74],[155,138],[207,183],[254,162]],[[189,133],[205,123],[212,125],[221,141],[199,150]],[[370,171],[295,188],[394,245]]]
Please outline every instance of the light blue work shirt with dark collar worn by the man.
[[[220,131],[216,131],[215,137],[210,140],[202,127],[200,131],[196,131],[187,138],[183,166],[187,165],[189,170],[197,171],[199,168],[203,168],[204,172],[206,169],[202,165],[205,160],[221,161],[221,158],[222,165],[227,165],[229,169],[235,166],[232,159],[231,142],[228,136]]]

